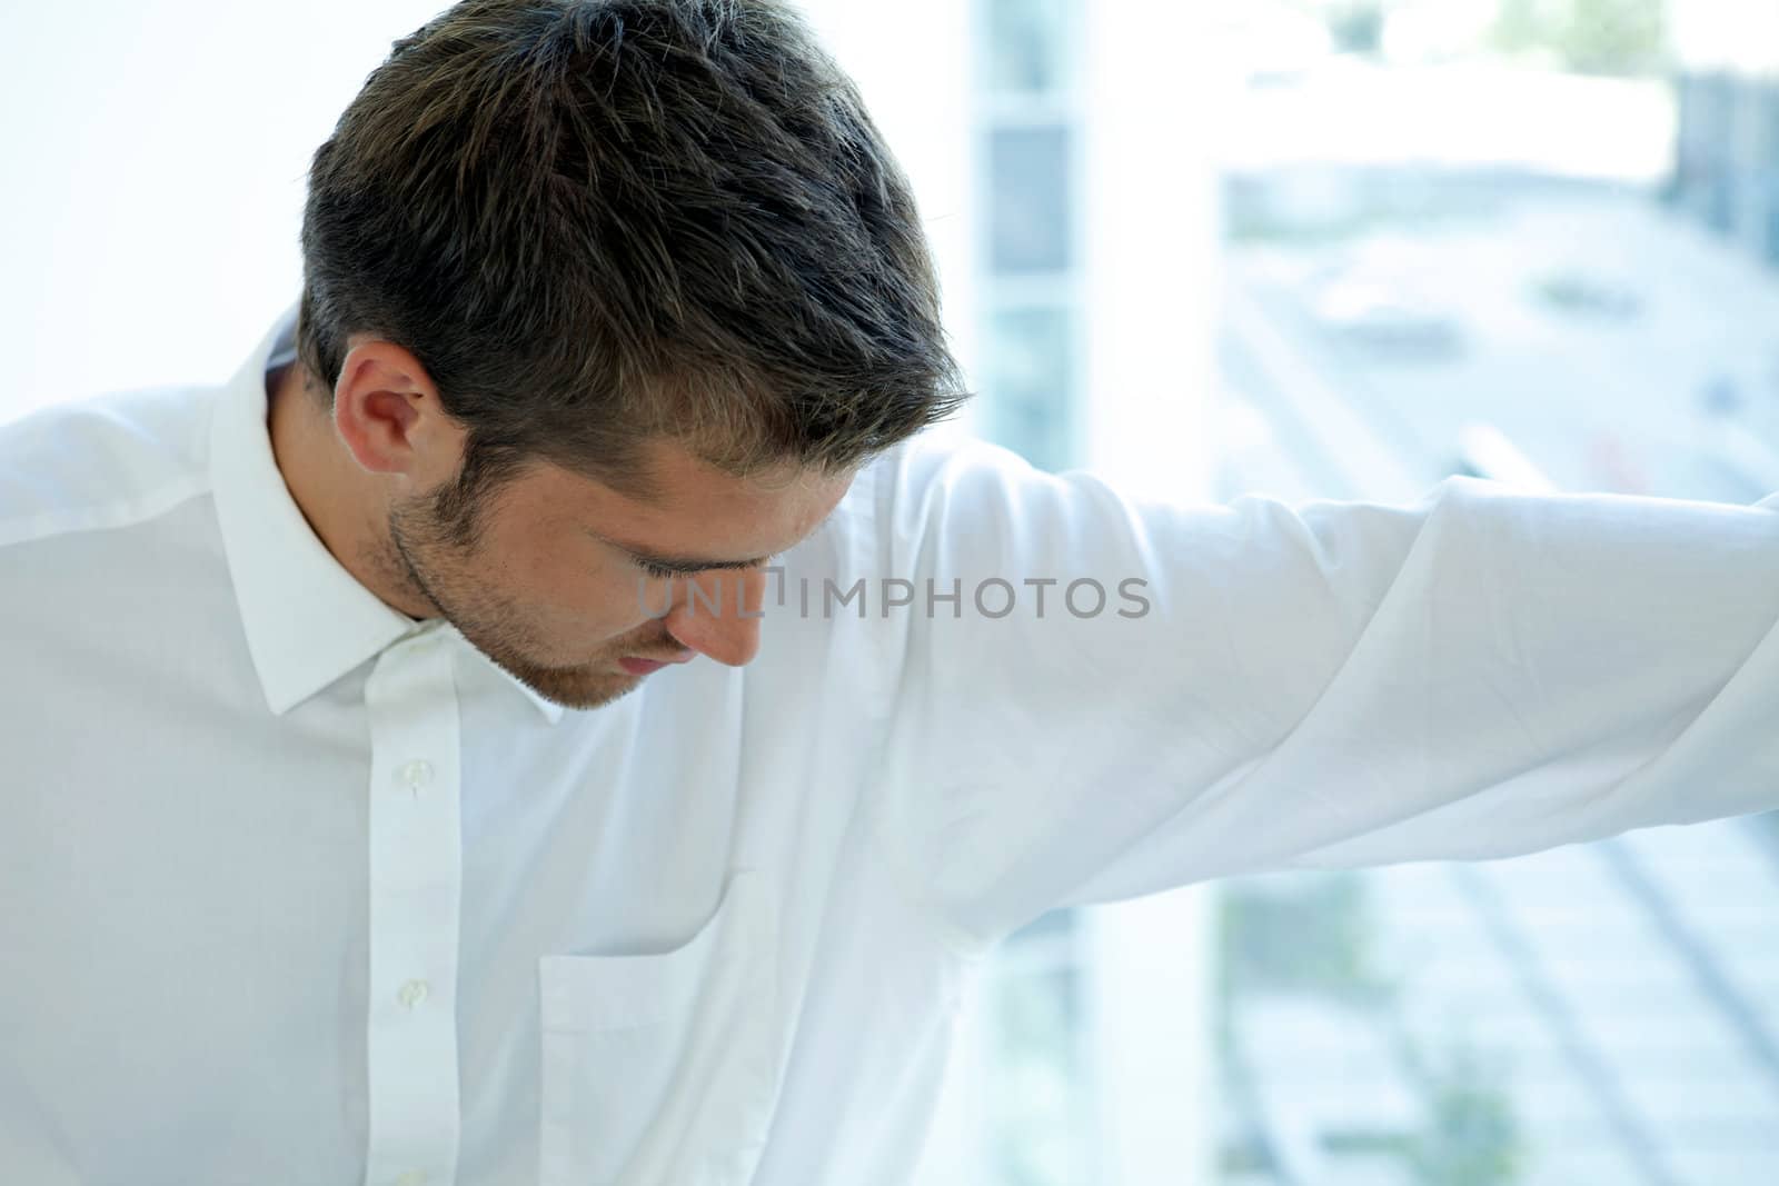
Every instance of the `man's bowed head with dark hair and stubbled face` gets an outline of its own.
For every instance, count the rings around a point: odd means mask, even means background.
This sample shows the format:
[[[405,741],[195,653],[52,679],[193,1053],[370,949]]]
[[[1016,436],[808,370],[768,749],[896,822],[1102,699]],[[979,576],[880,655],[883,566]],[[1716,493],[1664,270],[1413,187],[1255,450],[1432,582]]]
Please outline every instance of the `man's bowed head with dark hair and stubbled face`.
[[[562,702],[621,654],[745,661],[751,624],[644,615],[630,553],[779,551],[962,398],[907,183],[774,0],[459,4],[315,153],[302,251],[384,560]]]

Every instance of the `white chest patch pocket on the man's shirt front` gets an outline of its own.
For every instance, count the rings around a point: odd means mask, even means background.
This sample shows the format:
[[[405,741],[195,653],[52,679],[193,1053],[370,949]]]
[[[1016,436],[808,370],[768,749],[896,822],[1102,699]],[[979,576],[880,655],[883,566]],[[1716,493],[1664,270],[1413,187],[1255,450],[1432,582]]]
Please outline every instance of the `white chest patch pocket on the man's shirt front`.
[[[777,1088],[776,935],[758,871],[653,955],[546,955],[541,1186],[738,1186]]]

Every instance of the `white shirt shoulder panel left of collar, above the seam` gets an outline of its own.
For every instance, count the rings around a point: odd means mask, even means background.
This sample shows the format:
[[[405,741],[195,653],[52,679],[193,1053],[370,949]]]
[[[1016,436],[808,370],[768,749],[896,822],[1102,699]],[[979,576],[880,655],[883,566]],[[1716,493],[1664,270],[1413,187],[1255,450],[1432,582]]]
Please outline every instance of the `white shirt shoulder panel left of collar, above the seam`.
[[[208,493],[215,395],[116,391],[0,425],[0,548],[128,526]]]

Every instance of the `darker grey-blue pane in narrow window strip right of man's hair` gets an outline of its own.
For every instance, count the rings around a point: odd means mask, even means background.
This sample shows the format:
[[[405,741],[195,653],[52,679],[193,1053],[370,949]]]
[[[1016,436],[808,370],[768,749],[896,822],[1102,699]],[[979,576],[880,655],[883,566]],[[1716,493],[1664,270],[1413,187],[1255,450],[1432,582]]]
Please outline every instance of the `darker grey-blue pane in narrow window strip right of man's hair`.
[[[998,128],[989,133],[989,268],[1067,268],[1073,235],[1069,130]]]

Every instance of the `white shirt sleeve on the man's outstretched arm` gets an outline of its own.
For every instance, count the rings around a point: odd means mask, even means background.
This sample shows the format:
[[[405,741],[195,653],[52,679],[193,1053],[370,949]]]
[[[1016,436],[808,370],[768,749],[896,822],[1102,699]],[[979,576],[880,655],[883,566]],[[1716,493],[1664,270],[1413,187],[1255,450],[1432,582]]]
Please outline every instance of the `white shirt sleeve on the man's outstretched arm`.
[[[968,946],[1213,877],[1779,807],[1779,494],[1171,503],[964,443],[875,498],[866,576],[911,597],[870,606],[875,827]]]

